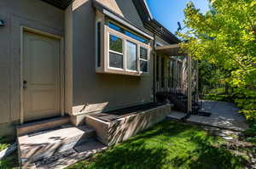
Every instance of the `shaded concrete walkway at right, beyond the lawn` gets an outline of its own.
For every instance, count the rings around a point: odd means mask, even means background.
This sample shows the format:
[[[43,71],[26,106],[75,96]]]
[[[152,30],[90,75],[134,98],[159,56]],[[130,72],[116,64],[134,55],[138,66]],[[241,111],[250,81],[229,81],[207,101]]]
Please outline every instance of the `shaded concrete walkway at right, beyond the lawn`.
[[[248,128],[244,115],[239,113],[235,104],[204,100],[202,101],[202,111],[210,112],[212,115],[210,117],[191,115],[187,121],[240,132]],[[173,111],[168,117],[180,120],[183,115],[185,114],[182,112]]]

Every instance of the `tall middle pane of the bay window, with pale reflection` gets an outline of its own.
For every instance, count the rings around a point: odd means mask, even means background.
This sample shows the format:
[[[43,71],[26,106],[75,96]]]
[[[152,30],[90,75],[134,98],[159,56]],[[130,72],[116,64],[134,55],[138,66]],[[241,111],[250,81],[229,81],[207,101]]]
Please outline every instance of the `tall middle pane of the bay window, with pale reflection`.
[[[137,70],[137,44],[126,42],[126,66],[128,70]]]

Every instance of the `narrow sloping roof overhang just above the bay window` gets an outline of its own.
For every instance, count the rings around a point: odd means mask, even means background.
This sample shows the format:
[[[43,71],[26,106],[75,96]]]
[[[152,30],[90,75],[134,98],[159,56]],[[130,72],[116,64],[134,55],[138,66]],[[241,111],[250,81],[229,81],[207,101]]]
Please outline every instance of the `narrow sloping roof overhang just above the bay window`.
[[[119,14],[116,14],[111,10],[110,8],[106,7],[102,3],[97,2],[96,0],[93,2],[94,7],[101,12],[102,14],[105,14],[108,16],[108,18],[115,20],[119,22],[122,25],[125,25],[127,28],[130,28],[132,31],[136,31],[137,33],[141,34],[144,37],[147,37],[150,40],[154,40],[154,37],[150,36],[148,33],[143,31],[143,29],[137,27],[137,25],[132,24],[129,20],[126,20],[124,17],[120,16]]]

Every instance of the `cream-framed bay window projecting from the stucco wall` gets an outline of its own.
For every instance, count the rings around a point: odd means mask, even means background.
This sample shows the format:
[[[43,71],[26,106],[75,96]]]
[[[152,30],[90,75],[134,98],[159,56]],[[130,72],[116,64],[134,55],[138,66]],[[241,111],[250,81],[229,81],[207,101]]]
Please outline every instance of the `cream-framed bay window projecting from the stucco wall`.
[[[102,24],[102,31],[102,38],[97,38],[102,44],[103,52],[98,52],[101,54],[102,65],[96,66],[96,72],[131,76],[148,74],[148,38],[110,20]]]

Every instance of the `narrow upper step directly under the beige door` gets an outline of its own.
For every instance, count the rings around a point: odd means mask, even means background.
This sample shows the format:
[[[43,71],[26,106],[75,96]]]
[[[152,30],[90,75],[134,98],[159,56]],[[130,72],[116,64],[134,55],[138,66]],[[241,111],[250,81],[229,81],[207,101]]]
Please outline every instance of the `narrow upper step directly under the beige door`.
[[[61,127],[67,124],[70,124],[70,117],[68,115],[55,117],[55,118],[51,118],[43,121],[34,121],[34,122],[25,123],[16,127],[16,131],[17,131],[17,136],[22,136],[27,133],[40,132],[40,131],[44,131],[54,127]]]

